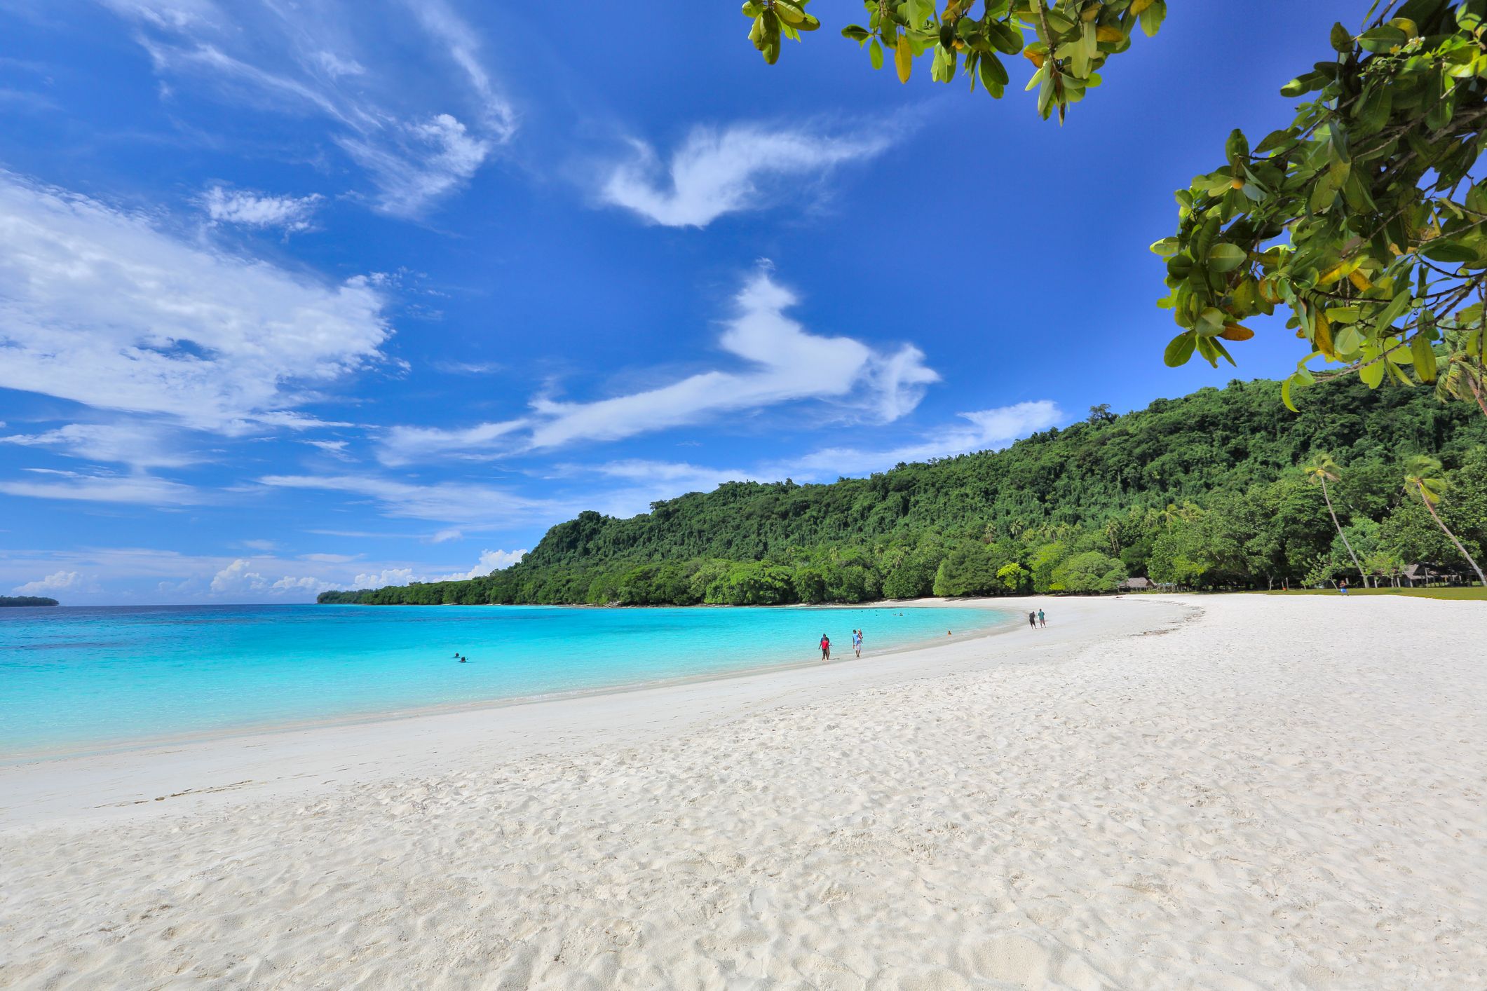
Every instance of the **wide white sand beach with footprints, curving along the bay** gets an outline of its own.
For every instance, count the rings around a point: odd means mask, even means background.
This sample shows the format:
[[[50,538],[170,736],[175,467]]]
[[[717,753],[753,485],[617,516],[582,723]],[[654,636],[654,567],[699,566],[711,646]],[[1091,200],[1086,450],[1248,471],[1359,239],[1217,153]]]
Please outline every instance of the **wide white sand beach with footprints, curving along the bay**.
[[[1026,602],[1050,628],[0,768],[0,987],[1487,987],[1481,603]]]

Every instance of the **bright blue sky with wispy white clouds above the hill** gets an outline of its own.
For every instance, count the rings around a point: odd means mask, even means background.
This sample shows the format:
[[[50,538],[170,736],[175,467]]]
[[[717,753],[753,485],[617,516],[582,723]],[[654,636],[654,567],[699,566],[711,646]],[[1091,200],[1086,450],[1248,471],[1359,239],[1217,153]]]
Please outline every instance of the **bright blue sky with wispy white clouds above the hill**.
[[[1063,128],[815,6],[0,0],[0,593],[485,574],[1291,367],[1163,367],[1146,245],[1364,4],[1175,0]]]

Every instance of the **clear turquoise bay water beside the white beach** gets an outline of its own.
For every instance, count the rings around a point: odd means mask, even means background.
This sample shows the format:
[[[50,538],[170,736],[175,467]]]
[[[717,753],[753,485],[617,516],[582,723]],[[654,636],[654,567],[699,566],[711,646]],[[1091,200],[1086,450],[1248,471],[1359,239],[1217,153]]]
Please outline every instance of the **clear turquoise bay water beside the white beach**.
[[[0,609],[0,756],[581,692],[851,657],[992,609],[155,606]],[[455,661],[455,652],[470,658]]]

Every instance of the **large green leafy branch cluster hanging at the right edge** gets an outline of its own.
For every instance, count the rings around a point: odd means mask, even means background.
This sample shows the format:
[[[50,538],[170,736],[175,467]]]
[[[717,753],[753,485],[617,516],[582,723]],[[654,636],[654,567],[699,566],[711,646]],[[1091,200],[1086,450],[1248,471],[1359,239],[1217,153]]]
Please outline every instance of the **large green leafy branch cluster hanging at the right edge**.
[[[1487,0],[1383,7],[1356,36],[1334,25],[1335,56],[1282,88],[1317,94],[1289,126],[1254,150],[1234,131],[1225,165],[1176,193],[1178,233],[1152,245],[1184,328],[1169,365],[1233,364],[1243,321],[1283,306],[1307,346],[1291,409],[1347,371],[1370,388],[1444,371],[1442,398],[1481,397]]]

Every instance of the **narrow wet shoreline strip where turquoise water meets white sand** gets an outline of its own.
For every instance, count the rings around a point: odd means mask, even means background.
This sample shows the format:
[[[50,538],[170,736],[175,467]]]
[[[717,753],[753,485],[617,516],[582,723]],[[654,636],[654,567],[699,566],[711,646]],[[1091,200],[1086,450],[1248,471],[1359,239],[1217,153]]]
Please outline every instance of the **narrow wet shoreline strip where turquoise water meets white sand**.
[[[986,609],[995,612],[1005,612],[1007,618],[990,627],[975,630],[964,634],[953,634],[953,642],[974,640],[978,637],[996,636],[1008,630],[1017,628],[1017,614],[1013,609],[1005,609],[993,603],[999,602],[999,597],[981,597],[981,599],[888,599],[873,603],[830,603],[830,605],[806,605],[793,603],[788,606],[717,606],[726,609],[885,609],[885,608],[913,608],[913,609],[935,609],[935,608],[958,608],[958,609]],[[297,603],[302,605],[302,603]],[[309,603],[317,605],[317,603]],[[332,603],[332,605],[358,605],[358,603]],[[494,603],[477,603],[477,605],[494,605]],[[174,606],[161,606],[174,608]],[[409,606],[422,608],[422,606]],[[555,609],[604,609],[610,606],[541,606]],[[625,609],[686,609],[694,606],[614,606]],[[922,651],[935,645],[944,643],[944,640],[926,639],[915,640],[910,643],[903,643],[898,646],[885,648],[882,651],[873,651],[871,654],[857,658],[843,657],[840,660],[833,658],[830,664],[845,664],[845,663],[862,663],[874,658],[892,657],[903,654],[906,651]],[[851,649],[851,646],[848,646]],[[459,713],[459,712],[485,712],[491,709],[507,709],[512,706],[526,706],[537,703],[555,703],[570,698],[586,698],[590,695],[610,695],[610,694],[625,694],[633,691],[644,691],[648,688],[665,688],[669,685],[690,685],[709,680],[726,680],[732,678],[746,678],[749,675],[766,675],[770,672],[785,672],[793,669],[809,669],[819,666],[819,660],[788,660],[788,661],[763,661],[757,664],[745,664],[736,669],[726,669],[699,675],[681,675],[677,678],[662,678],[654,680],[639,680],[639,682],[616,682],[613,685],[598,685],[593,688],[577,688],[572,691],[561,692],[540,692],[534,695],[507,695],[497,698],[482,698],[477,701],[459,701],[459,703],[439,703],[431,706],[409,706],[403,709],[379,709],[357,713],[343,713],[338,716],[326,716],[317,719],[299,719],[299,721],[280,721],[280,722],[254,722],[242,724],[236,727],[223,727],[219,730],[205,730],[198,732],[158,735],[158,737],[135,737],[128,740],[107,741],[100,744],[82,744],[82,746],[65,746],[65,747],[45,747],[39,750],[10,750],[0,752],[0,770],[7,767],[22,767],[30,764],[46,764],[54,761],[70,761],[83,759],[92,756],[106,756],[117,753],[129,753],[134,750],[153,750],[159,747],[184,747],[196,743],[208,743],[213,740],[233,740],[242,737],[257,737],[271,735],[278,732],[296,732],[305,730],[320,730],[332,727],[355,727],[369,725],[379,722],[393,722],[400,719],[419,719],[425,716],[439,716],[445,713]]]

